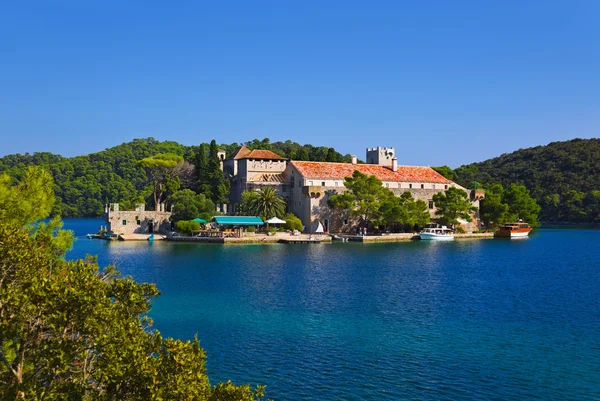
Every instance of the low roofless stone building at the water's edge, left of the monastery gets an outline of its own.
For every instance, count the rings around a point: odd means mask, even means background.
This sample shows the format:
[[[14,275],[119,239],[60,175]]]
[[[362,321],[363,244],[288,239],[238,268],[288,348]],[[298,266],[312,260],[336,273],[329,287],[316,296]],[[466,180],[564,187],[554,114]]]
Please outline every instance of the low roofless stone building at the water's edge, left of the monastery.
[[[160,211],[146,210],[146,205],[138,204],[133,211],[119,210],[118,203],[106,205],[104,209],[106,230],[114,234],[167,234],[171,231],[171,212],[166,212],[164,204]]]

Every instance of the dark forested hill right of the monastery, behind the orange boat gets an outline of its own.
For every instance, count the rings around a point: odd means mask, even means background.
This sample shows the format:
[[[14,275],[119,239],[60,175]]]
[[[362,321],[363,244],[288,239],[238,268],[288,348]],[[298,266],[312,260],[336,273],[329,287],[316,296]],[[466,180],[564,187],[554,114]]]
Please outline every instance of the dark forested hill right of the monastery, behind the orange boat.
[[[600,223],[598,138],[520,149],[443,174],[467,188],[522,184],[541,206],[542,222]]]

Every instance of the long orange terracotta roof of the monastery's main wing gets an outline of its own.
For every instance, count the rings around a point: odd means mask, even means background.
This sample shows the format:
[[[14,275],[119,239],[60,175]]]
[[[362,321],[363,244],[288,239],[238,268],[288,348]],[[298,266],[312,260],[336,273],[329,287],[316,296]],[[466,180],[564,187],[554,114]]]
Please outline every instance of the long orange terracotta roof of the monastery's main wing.
[[[452,181],[426,166],[398,166],[394,172],[390,167],[376,164],[327,163],[292,161],[290,165],[305,178],[343,179],[352,176],[354,170],[366,175],[374,175],[381,181],[396,182],[431,182],[450,184]]]

